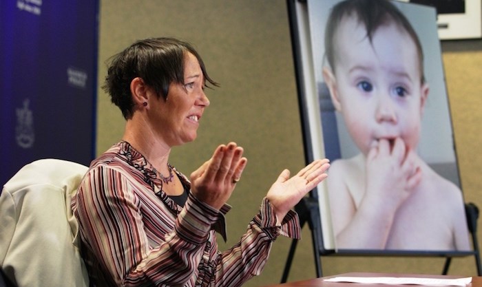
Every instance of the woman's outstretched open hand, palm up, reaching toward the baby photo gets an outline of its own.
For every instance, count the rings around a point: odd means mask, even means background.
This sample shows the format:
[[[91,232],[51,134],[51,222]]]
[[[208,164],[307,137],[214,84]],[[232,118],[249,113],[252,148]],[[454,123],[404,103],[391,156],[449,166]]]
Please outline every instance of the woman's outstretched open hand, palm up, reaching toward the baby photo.
[[[273,205],[278,222],[282,222],[288,211],[300,202],[300,200],[319,182],[328,175],[326,170],[330,167],[329,160],[315,160],[298,172],[293,178],[289,178],[290,171],[282,171],[276,182],[269,189],[266,198]]]

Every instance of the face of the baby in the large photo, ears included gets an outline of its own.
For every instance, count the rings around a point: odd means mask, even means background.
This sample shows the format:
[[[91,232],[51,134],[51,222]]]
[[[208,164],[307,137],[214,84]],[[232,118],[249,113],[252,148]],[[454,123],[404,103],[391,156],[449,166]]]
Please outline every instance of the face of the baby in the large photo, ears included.
[[[365,35],[353,17],[339,27],[331,87],[335,107],[364,154],[382,138],[400,137],[415,149],[428,94],[415,43],[394,24],[378,28],[372,43]]]

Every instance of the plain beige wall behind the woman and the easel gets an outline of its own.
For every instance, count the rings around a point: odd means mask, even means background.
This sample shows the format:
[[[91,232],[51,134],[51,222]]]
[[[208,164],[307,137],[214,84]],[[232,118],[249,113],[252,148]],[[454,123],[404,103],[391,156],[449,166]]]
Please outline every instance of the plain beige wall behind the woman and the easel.
[[[189,174],[220,143],[245,149],[247,169],[229,200],[228,244],[233,244],[255,214],[271,183],[284,168],[304,164],[300,115],[291,54],[286,3],[282,0],[102,0],[99,31],[99,85],[105,60],[137,39],[176,36],[196,45],[209,74],[221,87],[208,91],[198,140],[171,153],[171,163]],[[463,46],[472,46],[471,51]],[[448,92],[461,179],[467,202],[482,204],[480,41],[444,43]],[[478,105],[479,104],[479,105]],[[98,89],[97,153],[123,133],[121,113]],[[480,225],[480,224],[479,224]],[[289,281],[315,277],[311,234],[304,228]],[[290,240],[279,238],[264,273],[246,286],[277,284]],[[479,243],[480,244],[480,243]],[[440,273],[444,260],[426,257],[323,257],[324,275],[350,271]],[[475,275],[472,257],[452,261],[450,274]]]

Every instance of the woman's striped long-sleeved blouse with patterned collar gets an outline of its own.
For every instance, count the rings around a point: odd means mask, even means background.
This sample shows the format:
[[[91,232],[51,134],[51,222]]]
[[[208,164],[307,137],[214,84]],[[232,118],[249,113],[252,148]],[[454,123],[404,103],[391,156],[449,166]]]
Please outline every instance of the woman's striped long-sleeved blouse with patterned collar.
[[[187,178],[174,169],[183,184]],[[277,224],[264,198],[240,242],[218,251],[224,215],[191,193],[184,207],[162,190],[154,167],[128,142],[94,160],[72,199],[94,286],[241,286],[259,275],[278,235],[300,237],[290,211]]]

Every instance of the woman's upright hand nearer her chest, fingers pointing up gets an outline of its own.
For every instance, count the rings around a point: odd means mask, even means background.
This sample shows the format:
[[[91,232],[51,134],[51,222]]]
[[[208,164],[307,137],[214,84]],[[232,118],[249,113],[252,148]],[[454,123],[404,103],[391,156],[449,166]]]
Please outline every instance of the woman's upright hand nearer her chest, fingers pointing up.
[[[221,209],[240,180],[247,158],[235,142],[220,145],[213,156],[191,173],[191,191],[198,200]]]

